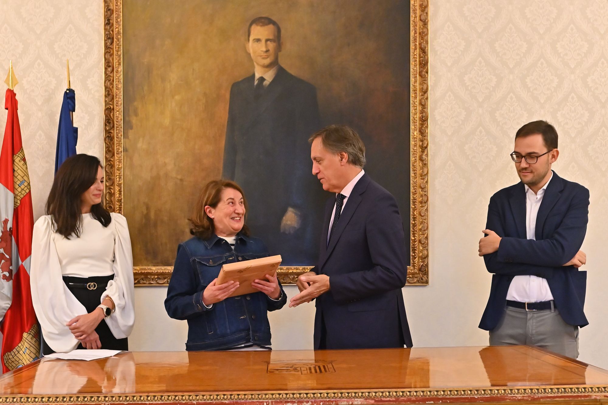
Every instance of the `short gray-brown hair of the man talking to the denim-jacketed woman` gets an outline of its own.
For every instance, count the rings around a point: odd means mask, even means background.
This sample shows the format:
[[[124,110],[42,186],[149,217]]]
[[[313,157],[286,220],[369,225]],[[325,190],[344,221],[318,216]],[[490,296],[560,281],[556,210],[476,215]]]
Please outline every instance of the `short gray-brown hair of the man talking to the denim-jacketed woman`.
[[[323,148],[333,154],[344,152],[348,155],[348,163],[362,169],[365,166],[365,145],[359,134],[346,125],[330,125],[315,132],[308,138],[313,143],[316,138],[321,138]]]

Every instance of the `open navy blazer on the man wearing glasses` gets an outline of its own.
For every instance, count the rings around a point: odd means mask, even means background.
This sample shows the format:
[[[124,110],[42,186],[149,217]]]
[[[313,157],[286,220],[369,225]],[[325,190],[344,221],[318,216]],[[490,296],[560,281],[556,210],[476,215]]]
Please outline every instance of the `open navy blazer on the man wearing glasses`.
[[[499,250],[483,256],[492,276],[488,305],[479,327],[492,330],[502,318],[514,276],[547,279],[562,319],[589,324],[583,312],[587,271],[563,266],[579,251],[587,231],[589,190],[553,172],[536,217],[536,240],[526,236],[526,195],[522,182],[503,188],[488,206],[486,229],[502,237]]]

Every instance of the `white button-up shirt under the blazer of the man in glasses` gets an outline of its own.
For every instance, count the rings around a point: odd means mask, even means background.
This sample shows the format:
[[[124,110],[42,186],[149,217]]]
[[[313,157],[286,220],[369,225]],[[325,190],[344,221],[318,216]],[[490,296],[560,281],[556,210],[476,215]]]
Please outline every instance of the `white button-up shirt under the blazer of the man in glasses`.
[[[536,240],[536,216],[551,179],[553,179],[553,172],[551,172],[548,182],[536,194],[530,187],[525,186],[527,239]],[[506,293],[506,299],[518,302],[542,302],[551,301],[553,294],[551,294],[547,279],[536,276],[515,276],[511,281],[509,291]]]

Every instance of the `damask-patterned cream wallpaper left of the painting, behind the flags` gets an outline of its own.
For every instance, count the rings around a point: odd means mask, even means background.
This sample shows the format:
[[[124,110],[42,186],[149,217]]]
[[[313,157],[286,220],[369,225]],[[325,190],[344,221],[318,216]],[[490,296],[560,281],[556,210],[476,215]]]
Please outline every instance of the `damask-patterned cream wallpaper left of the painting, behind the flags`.
[[[4,81],[12,60],[19,80],[15,93],[35,219],[43,214],[53,181],[59,111],[67,87],[66,59],[76,92],[77,151],[103,160],[102,2],[2,1],[0,77]],[[2,134],[5,124],[6,112],[0,112]]]

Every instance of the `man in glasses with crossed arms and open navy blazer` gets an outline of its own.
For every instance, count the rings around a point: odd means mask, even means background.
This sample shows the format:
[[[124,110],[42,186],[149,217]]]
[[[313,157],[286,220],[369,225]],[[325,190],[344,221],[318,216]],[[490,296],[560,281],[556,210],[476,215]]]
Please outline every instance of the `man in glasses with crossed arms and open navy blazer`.
[[[580,250],[587,231],[589,190],[551,170],[558,134],[533,121],[515,135],[511,154],[521,182],[503,188],[488,206],[479,256],[492,275],[479,327],[491,345],[529,344],[578,357],[587,261]]]

